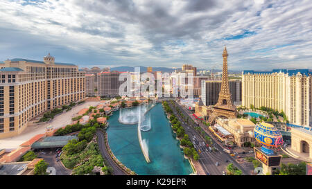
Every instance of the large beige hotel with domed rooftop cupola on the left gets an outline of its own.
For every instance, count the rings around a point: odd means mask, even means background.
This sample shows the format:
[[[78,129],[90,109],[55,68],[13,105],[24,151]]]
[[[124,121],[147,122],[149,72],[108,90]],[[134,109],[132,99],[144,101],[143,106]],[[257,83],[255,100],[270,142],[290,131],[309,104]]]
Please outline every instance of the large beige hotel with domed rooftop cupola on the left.
[[[20,134],[44,111],[85,99],[85,72],[54,60],[49,54],[0,62],[0,138]]]

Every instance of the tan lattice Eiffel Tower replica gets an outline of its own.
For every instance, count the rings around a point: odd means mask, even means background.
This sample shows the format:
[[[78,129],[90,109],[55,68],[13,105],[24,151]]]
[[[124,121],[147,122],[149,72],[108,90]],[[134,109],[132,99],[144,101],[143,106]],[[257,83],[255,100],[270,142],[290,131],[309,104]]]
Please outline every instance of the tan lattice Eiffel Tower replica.
[[[219,93],[218,102],[212,107],[208,122],[214,123],[218,116],[225,116],[227,118],[236,118],[236,106],[233,105],[231,93],[229,93],[229,80],[227,78],[227,48],[223,50],[223,74],[221,89]]]

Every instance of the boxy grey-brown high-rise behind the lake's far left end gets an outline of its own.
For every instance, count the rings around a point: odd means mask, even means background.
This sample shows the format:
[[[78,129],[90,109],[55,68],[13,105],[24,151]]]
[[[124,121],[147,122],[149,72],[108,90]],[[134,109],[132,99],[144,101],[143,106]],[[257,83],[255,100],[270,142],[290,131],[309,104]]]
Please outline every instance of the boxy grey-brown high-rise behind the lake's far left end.
[[[119,96],[119,87],[124,81],[119,81],[119,71],[103,71],[97,74],[99,96]]]

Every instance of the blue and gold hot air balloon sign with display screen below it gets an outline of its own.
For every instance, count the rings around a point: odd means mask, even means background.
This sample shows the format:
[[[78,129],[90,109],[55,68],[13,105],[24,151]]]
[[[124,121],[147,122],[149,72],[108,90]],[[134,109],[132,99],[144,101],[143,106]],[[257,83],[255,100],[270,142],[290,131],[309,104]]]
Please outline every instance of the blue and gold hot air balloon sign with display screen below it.
[[[281,132],[269,123],[257,123],[254,127],[254,138],[262,147],[254,147],[256,159],[261,161],[263,173],[272,173],[272,167],[279,166],[281,156],[276,154],[277,148],[283,144]]]

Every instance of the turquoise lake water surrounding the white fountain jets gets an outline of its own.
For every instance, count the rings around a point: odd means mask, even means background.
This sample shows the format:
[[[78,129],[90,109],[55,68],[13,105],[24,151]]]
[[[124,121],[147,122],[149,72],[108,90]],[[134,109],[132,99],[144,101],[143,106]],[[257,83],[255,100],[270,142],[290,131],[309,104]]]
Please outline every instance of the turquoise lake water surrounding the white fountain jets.
[[[108,143],[116,158],[130,170],[141,175],[191,174],[193,172],[191,165],[184,159],[179,141],[175,139],[162,104],[159,103],[150,109],[146,116],[150,116],[151,129],[141,133],[142,139],[146,138],[148,141],[151,162],[146,163],[141,152],[137,125],[119,123],[119,111],[114,111],[114,115],[108,120],[110,127],[107,129]]]

